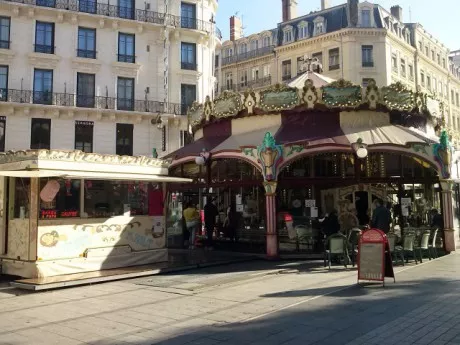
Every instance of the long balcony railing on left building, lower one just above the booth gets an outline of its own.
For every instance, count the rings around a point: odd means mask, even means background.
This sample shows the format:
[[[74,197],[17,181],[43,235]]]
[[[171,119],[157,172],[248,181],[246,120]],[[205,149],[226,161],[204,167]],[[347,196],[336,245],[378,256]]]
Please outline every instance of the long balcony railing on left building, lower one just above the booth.
[[[0,102],[44,104],[65,107],[95,108],[185,115],[181,104],[116,97],[75,95],[31,90],[0,89]],[[185,109],[186,110],[186,109]]]

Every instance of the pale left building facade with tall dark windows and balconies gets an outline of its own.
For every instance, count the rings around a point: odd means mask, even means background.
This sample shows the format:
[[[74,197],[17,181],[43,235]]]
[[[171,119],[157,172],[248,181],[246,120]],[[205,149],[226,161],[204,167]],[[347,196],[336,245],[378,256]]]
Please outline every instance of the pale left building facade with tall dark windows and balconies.
[[[216,10],[216,0],[0,1],[0,150],[179,148],[187,107],[212,92]]]

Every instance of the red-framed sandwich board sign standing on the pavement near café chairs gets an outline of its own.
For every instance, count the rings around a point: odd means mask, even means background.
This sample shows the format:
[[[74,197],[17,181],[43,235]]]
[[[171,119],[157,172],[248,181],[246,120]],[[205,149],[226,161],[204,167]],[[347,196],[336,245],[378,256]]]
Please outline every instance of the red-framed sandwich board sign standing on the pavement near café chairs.
[[[385,277],[396,282],[387,236],[378,229],[364,231],[358,244],[358,284],[368,280],[385,286]]]

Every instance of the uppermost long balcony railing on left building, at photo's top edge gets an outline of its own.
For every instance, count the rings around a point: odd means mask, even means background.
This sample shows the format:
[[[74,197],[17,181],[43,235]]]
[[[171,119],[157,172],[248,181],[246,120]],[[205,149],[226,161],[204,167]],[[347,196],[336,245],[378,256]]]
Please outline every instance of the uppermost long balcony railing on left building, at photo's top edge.
[[[201,19],[179,17],[171,14],[159,13],[150,10],[141,10],[131,7],[121,7],[98,3],[94,0],[2,0],[25,5],[57,8],[73,12],[99,14],[107,17],[133,19],[145,23],[169,25],[211,32],[212,23]]]

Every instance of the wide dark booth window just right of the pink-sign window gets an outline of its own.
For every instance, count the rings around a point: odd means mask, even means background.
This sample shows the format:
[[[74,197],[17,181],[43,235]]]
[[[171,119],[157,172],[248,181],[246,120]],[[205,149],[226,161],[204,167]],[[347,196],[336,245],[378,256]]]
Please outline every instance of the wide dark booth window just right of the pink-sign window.
[[[85,213],[90,218],[148,215],[148,184],[86,180]]]

